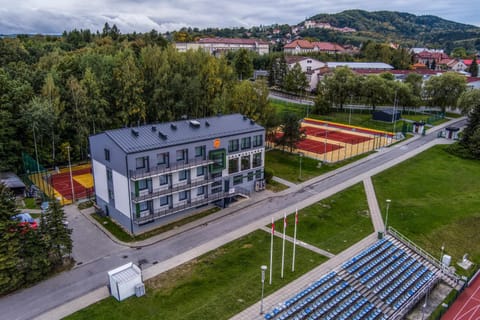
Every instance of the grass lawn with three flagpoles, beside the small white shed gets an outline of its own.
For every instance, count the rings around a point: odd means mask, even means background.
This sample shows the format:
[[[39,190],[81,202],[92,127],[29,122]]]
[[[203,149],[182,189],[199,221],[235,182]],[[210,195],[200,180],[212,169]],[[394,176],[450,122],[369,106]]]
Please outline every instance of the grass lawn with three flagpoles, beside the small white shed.
[[[273,281],[265,296],[326,261],[297,247],[291,272],[292,246],[286,244],[284,279],[280,278],[281,239],[274,243]],[[260,266],[268,265],[270,235],[255,231],[146,282],[146,296],[117,302],[110,297],[66,319],[228,319],[260,300]]]

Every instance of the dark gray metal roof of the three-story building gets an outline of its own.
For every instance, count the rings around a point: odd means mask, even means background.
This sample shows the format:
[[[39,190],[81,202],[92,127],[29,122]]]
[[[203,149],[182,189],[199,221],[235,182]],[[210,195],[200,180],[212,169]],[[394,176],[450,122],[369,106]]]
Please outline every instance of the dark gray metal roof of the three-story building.
[[[241,114],[149,124],[105,131],[126,153],[264,130]]]

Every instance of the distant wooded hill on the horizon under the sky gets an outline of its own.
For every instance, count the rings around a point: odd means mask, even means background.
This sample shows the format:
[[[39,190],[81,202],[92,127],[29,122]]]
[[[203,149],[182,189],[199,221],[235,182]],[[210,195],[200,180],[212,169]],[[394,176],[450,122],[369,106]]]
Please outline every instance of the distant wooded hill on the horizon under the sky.
[[[455,47],[480,50],[480,28],[445,20],[436,16],[416,16],[394,11],[368,12],[346,10],[336,14],[317,14],[308,20],[330,23],[337,28],[356,29],[353,33],[339,33],[327,29],[311,28],[301,36],[327,38],[343,43],[366,40],[392,41],[406,46],[430,46],[451,51]],[[298,25],[303,25],[303,22]]]

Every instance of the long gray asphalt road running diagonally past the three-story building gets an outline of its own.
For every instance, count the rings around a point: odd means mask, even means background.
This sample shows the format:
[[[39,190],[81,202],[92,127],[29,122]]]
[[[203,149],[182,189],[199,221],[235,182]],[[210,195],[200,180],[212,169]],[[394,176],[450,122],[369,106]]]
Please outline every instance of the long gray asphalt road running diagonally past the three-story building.
[[[462,126],[465,124],[465,121],[459,120],[455,125]],[[351,165],[326,178],[314,179],[313,182],[307,182],[297,188],[291,188],[291,192],[283,193],[252,205],[239,207],[233,214],[227,215],[222,219],[178,234],[148,247],[133,249],[114,245],[111,247],[112,250],[108,251],[109,247],[107,245],[107,247],[99,250],[100,258],[95,258],[95,255],[92,255],[90,261],[85,261],[84,264],[73,270],[43,281],[34,287],[2,297],[0,299],[0,318],[31,319],[106,285],[107,271],[119,265],[129,261],[135,263],[142,261],[143,267],[148,267],[153,263],[167,260],[245,225],[268,219],[272,214],[278,213],[295,203],[308,201],[313,194],[330,189],[333,190],[348,181],[351,181],[351,184],[356,183],[355,179],[352,180],[352,177],[359,177],[359,181],[361,181],[361,176],[365,173],[375,168],[380,168],[393,159],[398,159],[408,151],[419,148],[436,139],[436,137],[437,131],[434,131],[419,139],[407,142],[402,147],[384,149],[368,161]],[[75,228],[74,225],[72,227]],[[91,235],[82,235],[81,233],[78,235],[78,237],[82,236],[86,238],[91,237]],[[77,241],[79,241],[78,239]],[[110,240],[102,239],[99,236],[93,241],[99,243]]]

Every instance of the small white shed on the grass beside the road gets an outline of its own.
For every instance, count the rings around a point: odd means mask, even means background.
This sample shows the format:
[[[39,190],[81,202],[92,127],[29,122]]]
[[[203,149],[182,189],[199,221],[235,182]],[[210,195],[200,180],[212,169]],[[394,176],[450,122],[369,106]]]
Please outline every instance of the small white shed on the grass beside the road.
[[[133,295],[141,296],[145,293],[145,287],[142,283],[142,271],[132,262],[109,271],[108,279],[110,282],[110,293],[118,301]]]

